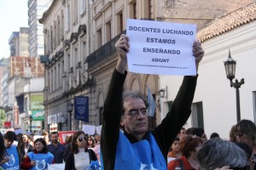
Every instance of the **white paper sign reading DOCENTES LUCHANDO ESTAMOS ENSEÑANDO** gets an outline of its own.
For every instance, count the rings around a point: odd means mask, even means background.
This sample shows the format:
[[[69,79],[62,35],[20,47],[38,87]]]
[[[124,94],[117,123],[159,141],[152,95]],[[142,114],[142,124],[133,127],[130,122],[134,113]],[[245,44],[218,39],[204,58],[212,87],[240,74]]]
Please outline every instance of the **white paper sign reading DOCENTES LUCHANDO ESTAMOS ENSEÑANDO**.
[[[196,75],[192,52],[195,34],[195,25],[128,19],[128,70],[157,75]]]

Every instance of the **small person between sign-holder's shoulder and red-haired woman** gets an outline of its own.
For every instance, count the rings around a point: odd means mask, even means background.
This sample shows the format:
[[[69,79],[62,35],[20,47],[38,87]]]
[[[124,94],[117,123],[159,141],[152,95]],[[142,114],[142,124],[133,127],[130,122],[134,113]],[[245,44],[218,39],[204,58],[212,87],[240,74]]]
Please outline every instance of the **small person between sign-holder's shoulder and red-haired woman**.
[[[171,145],[171,151],[167,155],[167,162],[179,159],[182,156],[182,153],[179,149],[179,138],[175,138]]]

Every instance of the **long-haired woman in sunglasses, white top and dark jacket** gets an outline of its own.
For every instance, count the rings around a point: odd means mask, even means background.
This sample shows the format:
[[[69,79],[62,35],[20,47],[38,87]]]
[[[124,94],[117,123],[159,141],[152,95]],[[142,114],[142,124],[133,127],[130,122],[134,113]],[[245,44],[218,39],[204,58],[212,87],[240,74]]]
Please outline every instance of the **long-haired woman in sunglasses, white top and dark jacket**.
[[[84,131],[73,133],[71,153],[67,156],[65,170],[86,170],[90,161],[97,161],[93,150],[87,149]]]

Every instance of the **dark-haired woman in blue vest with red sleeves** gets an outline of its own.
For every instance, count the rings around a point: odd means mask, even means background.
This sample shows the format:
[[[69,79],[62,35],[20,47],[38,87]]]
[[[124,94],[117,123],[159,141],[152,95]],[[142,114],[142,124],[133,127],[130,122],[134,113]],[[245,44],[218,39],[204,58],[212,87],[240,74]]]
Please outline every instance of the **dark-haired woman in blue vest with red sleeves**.
[[[35,149],[27,153],[26,158],[21,163],[24,169],[47,169],[48,164],[54,163],[54,156],[48,151],[44,139],[39,138],[34,142]]]

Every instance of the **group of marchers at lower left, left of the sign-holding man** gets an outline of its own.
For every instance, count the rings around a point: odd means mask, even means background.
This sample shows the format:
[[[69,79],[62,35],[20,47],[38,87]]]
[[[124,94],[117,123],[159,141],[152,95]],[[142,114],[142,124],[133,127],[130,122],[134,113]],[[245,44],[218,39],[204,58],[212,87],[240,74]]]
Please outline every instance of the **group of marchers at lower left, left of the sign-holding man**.
[[[41,138],[33,139],[33,135],[26,133],[0,133],[0,169],[44,170],[51,164],[60,164],[59,168],[66,170],[87,170],[90,166],[100,169],[100,153],[98,149],[94,150],[100,145],[100,135],[96,135],[97,141],[93,136],[77,131],[68,136],[64,144],[60,143],[59,133],[48,135],[45,132]]]

